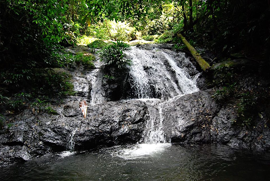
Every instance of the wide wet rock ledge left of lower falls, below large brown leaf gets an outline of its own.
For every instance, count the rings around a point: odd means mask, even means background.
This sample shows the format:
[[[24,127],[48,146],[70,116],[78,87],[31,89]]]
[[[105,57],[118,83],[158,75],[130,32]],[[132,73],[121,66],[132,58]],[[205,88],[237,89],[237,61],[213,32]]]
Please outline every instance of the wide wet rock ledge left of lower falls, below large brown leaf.
[[[149,119],[147,107],[140,101],[90,106],[86,119],[83,119],[77,101],[58,107],[57,112],[57,115],[33,114],[25,110],[13,117],[20,121],[0,135],[0,164],[69,150],[72,133],[76,150],[137,143],[143,137],[145,121]]]

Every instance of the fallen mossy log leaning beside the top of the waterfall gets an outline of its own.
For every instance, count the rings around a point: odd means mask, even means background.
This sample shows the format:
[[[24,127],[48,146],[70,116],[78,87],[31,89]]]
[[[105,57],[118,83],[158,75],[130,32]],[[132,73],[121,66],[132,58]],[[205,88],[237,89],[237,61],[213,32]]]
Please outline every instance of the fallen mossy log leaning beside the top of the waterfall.
[[[185,39],[185,37],[183,37],[183,35],[177,34],[177,36],[181,38],[183,43],[187,46],[188,50],[190,51],[191,55],[195,58],[195,60],[198,62],[203,71],[206,72],[210,68],[210,65],[201,57],[201,55],[195,50],[195,48],[188,43],[188,41]]]

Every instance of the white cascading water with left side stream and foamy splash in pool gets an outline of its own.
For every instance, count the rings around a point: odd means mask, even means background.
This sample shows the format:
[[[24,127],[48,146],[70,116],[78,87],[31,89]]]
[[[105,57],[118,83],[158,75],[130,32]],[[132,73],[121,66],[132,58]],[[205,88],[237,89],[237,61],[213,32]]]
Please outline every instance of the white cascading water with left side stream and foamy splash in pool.
[[[130,97],[124,98],[123,101],[136,99],[144,102],[148,107],[150,119],[146,123],[143,144],[118,150],[112,155],[134,159],[160,152],[170,146],[170,140],[166,141],[163,131],[163,106],[185,94],[199,91],[196,86],[199,73],[193,77],[189,75],[187,67],[193,71],[195,67],[184,53],[167,49],[146,50],[131,47],[126,54],[132,60],[127,80],[132,92]],[[92,105],[104,101],[100,93],[102,78],[103,75],[97,73],[91,92]]]

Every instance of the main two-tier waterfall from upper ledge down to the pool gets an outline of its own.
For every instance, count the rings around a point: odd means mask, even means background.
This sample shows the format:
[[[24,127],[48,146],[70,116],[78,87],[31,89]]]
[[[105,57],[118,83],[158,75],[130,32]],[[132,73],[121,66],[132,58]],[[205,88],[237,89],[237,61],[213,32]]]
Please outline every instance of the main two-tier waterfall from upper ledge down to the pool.
[[[174,56],[169,53],[174,53]],[[163,105],[184,94],[199,91],[196,86],[199,74],[192,78],[184,68],[178,67],[175,57],[181,57],[185,64],[195,70],[191,62],[181,53],[132,47],[127,54],[133,62],[129,71],[131,89],[134,89],[135,97],[146,103],[150,116],[146,123],[143,142],[165,143]],[[153,90],[150,87],[153,87]]]

